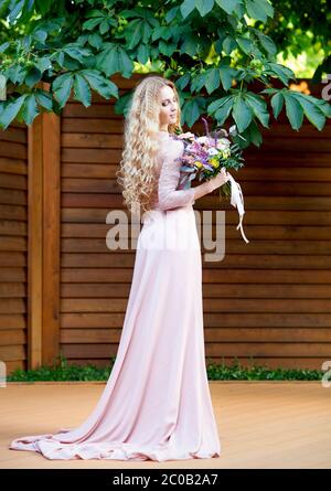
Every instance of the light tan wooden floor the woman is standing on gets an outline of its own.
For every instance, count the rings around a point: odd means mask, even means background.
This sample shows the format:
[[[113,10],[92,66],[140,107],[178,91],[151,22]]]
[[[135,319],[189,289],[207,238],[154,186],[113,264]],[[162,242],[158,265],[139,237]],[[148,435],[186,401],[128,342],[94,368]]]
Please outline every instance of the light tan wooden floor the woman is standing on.
[[[11,439],[79,425],[103,383],[8,383],[0,388],[0,468],[331,468],[331,387],[320,382],[210,382],[222,455],[180,461],[47,460]]]

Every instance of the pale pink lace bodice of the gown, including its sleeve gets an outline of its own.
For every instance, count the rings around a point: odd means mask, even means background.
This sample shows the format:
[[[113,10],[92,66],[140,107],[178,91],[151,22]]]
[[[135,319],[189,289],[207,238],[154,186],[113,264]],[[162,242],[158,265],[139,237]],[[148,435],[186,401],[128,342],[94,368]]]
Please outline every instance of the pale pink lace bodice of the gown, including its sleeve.
[[[153,210],[173,210],[193,205],[194,188],[179,190],[180,159],[184,151],[184,143],[166,131],[158,131],[160,149],[158,154],[158,193]]]

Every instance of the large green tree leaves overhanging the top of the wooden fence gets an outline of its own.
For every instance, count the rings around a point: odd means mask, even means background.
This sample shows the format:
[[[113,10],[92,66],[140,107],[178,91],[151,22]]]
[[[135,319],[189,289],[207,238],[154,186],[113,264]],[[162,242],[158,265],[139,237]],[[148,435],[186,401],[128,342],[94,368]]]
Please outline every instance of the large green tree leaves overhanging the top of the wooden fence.
[[[287,29],[280,13],[287,4],[274,10],[269,0],[3,1],[0,94],[7,90],[7,99],[0,102],[0,128],[15,118],[31,125],[42,111],[60,114],[72,94],[88,107],[93,90],[117,99],[116,111],[126,115],[131,94],[119,97],[109,77],[150,70],[175,79],[183,125],[192,127],[202,114],[215,126],[235,122],[242,147],[259,146],[260,127],[268,128],[270,113],[277,118],[282,108],[292,128],[306,117],[321,130],[330,106],[290,90],[295,74],[277,63],[274,34],[278,40],[277,29]],[[302,20],[300,13],[291,19]],[[254,82],[267,89],[254,92]]]

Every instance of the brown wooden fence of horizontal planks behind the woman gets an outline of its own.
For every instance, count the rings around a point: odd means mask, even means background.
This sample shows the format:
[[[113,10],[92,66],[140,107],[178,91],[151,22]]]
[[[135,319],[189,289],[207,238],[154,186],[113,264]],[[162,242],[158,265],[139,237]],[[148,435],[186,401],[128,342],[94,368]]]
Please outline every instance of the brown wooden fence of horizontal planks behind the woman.
[[[122,94],[139,78],[113,79]],[[96,365],[116,355],[136,250],[106,246],[107,213],[125,210],[114,103],[70,99],[61,118],[0,132],[0,360],[9,373],[60,353]],[[203,263],[209,361],[320,369],[331,360],[330,137],[330,122],[319,132],[305,121],[297,132],[281,114],[260,149],[246,152],[234,177],[249,244],[217,193],[195,202],[196,211],[226,210],[225,258]]]

